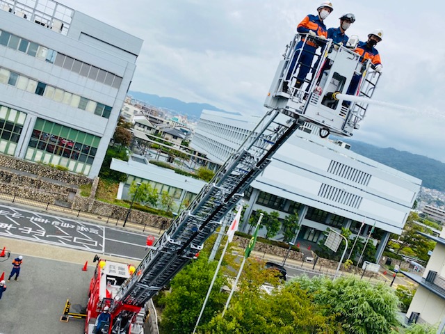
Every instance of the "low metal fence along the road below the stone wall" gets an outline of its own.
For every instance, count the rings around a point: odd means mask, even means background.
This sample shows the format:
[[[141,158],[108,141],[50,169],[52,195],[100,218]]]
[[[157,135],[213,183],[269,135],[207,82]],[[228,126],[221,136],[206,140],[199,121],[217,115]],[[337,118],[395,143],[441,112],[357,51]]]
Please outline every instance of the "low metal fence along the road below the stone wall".
[[[48,212],[49,211],[60,212],[63,214],[69,214],[71,216],[76,216],[78,218],[87,218],[87,219],[92,219],[94,221],[101,221],[101,222],[105,223],[106,225],[109,224],[109,225],[115,225],[115,226],[121,226],[121,227],[124,225],[124,219],[113,218],[110,216],[100,216],[97,214],[92,214],[90,212],[74,210],[69,207],[63,207],[61,205],[51,204],[49,202],[45,203],[45,202],[40,202],[38,200],[31,200],[29,198],[22,198],[22,197],[15,196],[15,195],[9,195],[7,193],[0,193],[0,200],[6,200],[8,202],[13,202],[16,204],[30,205],[31,207],[38,207],[38,208],[44,209],[45,211],[48,211]],[[130,218],[131,218],[131,214],[130,214]],[[127,226],[129,228],[135,228],[135,229],[141,230],[143,232],[145,232],[145,230],[148,230],[149,228],[151,228],[152,230],[154,229],[153,226],[147,225],[147,223],[140,224],[140,223],[132,223],[131,221],[127,221],[127,223],[125,223],[125,226]],[[161,232],[162,232],[162,228],[159,229],[158,234],[161,234]]]

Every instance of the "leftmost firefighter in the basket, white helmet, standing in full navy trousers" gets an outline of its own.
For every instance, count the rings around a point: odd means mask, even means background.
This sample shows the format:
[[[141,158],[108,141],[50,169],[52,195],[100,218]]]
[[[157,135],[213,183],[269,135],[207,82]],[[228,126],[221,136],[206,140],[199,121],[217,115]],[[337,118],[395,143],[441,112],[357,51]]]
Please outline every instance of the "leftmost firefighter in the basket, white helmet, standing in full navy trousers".
[[[293,71],[295,70],[296,62],[301,52],[300,70],[297,74],[296,88],[300,88],[303,81],[305,81],[306,76],[311,69],[316,49],[319,46],[314,39],[307,40],[304,47],[302,47],[303,42],[308,36],[318,36],[318,38],[321,39],[327,38],[327,29],[323,19],[330,15],[332,10],[334,10],[332,3],[330,3],[330,1],[323,1],[323,3],[321,3],[321,5],[317,8],[318,15],[307,15],[307,17],[305,17],[297,26],[298,33],[306,33],[307,36],[303,37],[296,45],[296,51],[293,54],[291,65],[289,65],[289,70],[286,74],[286,81],[289,81],[289,79],[292,77]],[[289,86],[286,81],[284,81],[283,84],[283,91],[286,91]]]

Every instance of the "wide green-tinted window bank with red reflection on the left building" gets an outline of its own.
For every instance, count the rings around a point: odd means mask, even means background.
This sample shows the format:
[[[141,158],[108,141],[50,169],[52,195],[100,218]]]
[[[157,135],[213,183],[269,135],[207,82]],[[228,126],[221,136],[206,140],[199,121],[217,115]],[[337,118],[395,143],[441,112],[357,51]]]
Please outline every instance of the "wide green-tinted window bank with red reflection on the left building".
[[[88,175],[99,142],[98,136],[38,118],[25,159]]]

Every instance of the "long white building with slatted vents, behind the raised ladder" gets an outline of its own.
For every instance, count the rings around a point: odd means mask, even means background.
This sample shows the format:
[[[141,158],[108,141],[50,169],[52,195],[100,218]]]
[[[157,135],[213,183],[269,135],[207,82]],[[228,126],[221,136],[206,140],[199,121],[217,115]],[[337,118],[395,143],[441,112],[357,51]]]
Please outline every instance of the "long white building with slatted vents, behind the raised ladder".
[[[221,165],[258,122],[258,117],[204,111],[191,148]],[[314,242],[323,239],[329,226],[349,228],[353,237],[366,237],[375,226],[371,237],[374,244],[381,241],[380,258],[389,234],[401,234],[421,180],[320,138],[313,130],[305,125],[291,136],[252,182],[245,193],[249,207],[242,229],[249,228],[248,217],[258,209],[277,211],[280,218],[298,212],[298,238]],[[279,233],[277,239],[281,237]]]

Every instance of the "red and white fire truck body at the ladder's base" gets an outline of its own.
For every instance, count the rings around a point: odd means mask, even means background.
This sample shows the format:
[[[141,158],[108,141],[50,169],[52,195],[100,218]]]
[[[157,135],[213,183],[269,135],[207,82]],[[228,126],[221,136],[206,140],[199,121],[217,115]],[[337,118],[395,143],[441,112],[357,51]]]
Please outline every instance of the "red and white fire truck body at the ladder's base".
[[[136,268],[132,264],[102,260],[97,255],[95,262],[97,262],[97,265],[95,273],[91,278],[88,292],[85,333],[143,334],[143,324],[146,317],[144,308],[133,308],[131,305],[121,305],[120,308],[112,308],[114,304],[118,303],[115,300],[118,290],[134,273]],[[120,312],[122,306],[127,312]],[[104,309],[109,310],[109,323],[97,321]],[[111,331],[113,325],[119,329]]]

